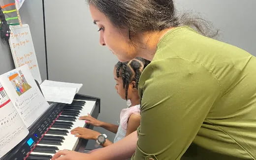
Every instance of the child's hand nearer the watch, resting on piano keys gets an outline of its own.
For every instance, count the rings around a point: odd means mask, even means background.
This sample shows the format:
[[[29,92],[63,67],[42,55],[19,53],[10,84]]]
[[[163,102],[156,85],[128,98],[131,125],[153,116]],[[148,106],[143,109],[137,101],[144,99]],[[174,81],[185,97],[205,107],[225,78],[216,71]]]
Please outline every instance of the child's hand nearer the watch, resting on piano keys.
[[[76,137],[84,138],[84,139],[97,139],[97,137],[100,135],[100,133],[90,130],[83,127],[77,127],[70,132],[71,134],[74,134]]]

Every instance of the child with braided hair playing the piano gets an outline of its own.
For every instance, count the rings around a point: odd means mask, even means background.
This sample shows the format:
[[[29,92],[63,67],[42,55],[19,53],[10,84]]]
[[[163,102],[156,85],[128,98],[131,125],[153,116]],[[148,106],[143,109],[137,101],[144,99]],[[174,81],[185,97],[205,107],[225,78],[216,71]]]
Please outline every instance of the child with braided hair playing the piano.
[[[116,80],[115,89],[122,99],[130,100],[131,103],[128,108],[122,109],[119,126],[99,121],[89,114],[80,117],[80,119],[86,120],[87,124],[102,127],[110,132],[116,133],[114,143],[136,131],[137,127],[140,125],[138,82],[143,69],[149,63],[150,61],[137,57],[128,62],[118,62],[114,67],[114,79]],[[105,134],[87,128],[77,127],[71,130],[71,134],[75,134],[75,136],[84,139],[95,139],[96,142],[103,147],[112,144],[111,141],[106,139]],[[103,141],[99,140],[100,137],[103,138]]]

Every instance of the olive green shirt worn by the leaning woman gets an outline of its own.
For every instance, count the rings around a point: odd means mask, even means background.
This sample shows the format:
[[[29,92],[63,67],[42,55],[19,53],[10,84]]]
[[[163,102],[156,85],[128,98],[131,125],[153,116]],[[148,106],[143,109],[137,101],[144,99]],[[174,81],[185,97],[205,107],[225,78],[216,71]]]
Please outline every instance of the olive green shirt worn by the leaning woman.
[[[255,160],[256,57],[177,27],[139,80],[132,160]]]

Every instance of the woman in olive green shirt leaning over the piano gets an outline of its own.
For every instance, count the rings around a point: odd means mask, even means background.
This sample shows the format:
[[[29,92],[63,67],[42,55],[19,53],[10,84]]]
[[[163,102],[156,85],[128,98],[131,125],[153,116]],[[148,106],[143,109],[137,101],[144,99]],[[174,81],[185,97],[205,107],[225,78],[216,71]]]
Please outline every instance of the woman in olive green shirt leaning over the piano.
[[[120,61],[151,61],[138,85],[141,125],[92,154],[53,160],[256,160],[255,56],[212,39],[202,19],[177,17],[172,0],[88,2],[102,46]]]

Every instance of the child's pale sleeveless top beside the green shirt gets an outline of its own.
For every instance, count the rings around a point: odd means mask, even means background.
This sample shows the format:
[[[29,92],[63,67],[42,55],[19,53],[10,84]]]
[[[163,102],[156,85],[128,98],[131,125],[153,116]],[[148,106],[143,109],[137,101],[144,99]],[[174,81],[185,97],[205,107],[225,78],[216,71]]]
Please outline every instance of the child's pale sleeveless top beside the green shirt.
[[[128,107],[121,110],[120,113],[120,125],[118,127],[116,136],[114,138],[114,143],[123,139],[126,136],[127,126],[128,126],[128,119],[132,113],[140,114],[139,112],[140,105]]]

